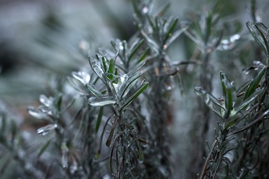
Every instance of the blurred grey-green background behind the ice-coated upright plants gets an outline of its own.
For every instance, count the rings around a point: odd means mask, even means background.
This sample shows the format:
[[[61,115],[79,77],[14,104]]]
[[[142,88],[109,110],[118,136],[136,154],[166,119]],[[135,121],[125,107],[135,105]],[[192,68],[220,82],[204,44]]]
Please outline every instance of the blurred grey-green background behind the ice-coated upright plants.
[[[223,30],[223,40],[210,61],[214,67],[212,94],[215,96],[221,94],[220,70],[235,84],[242,84],[253,75],[245,75],[243,70],[252,61],[261,59],[262,54],[255,50],[257,44],[245,25],[248,20],[269,23],[268,3],[256,2],[255,14],[251,11],[251,0],[221,1],[219,5],[221,20],[216,27]],[[161,0],[154,3],[155,8],[163,5]],[[171,0],[168,15],[195,21],[197,14],[210,10],[212,3],[214,1]],[[100,46],[110,48],[111,39],[130,39],[136,32],[132,13],[128,0],[0,1],[0,112],[8,113],[19,127],[38,140],[36,137],[40,136],[34,134],[38,124],[33,124],[26,112],[27,106],[37,105],[39,94],[49,94],[55,78],[88,67],[88,54],[94,54]],[[232,41],[231,34],[239,35],[239,39]],[[81,51],[79,47],[84,46],[92,51]],[[184,35],[168,52],[177,61],[199,59],[200,55]],[[185,178],[189,172],[190,158],[186,158],[186,154],[191,155],[190,121],[199,108],[193,102],[197,98],[193,89],[199,85],[196,70],[194,65],[181,67],[183,95],[174,94],[172,123],[175,125],[169,129],[173,136],[172,153],[176,156],[173,163],[179,178]]]

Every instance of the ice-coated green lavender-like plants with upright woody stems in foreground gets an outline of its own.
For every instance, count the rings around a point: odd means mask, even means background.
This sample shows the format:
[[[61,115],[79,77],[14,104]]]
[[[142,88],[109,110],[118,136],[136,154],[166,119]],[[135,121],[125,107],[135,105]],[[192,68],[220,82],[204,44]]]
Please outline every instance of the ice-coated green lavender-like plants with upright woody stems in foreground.
[[[223,1],[206,4],[210,8],[201,13],[186,12],[182,19],[166,16],[170,4],[155,10],[151,0],[131,3],[137,32],[128,40],[112,40],[110,48],[98,48],[95,56],[90,45],[80,44],[89,64],[54,79],[50,92],[39,96],[39,107],[28,107],[38,121],[39,136],[27,137],[0,108],[0,175],[195,178],[199,173],[199,178],[268,178],[266,25],[246,23],[257,43],[252,44],[253,54],[260,58],[253,61],[245,54],[251,49],[250,38],[239,34],[237,22],[227,20]],[[250,4],[252,20],[257,21],[256,1]],[[190,53],[185,61],[170,53],[181,41]],[[235,60],[223,63],[224,54]],[[246,66],[249,61],[252,65]],[[243,81],[228,71],[235,63],[245,68],[243,73],[233,68]],[[219,70],[220,83],[215,83]],[[199,85],[192,87],[199,97],[191,94],[179,101],[196,105],[193,114],[187,113],[192,119],[188,142],[179,144],[190,147],[180,156],[188,161],[178,162],[170,123],[186,118],[173,111],[179,105],[173,96],[190,91],[186,83]],[[215,94],[218,89],[221,93]],[[32,141],[35,138],[42,141]],[[186,173],[177,176],[177,167]],[[16,170],[8,173],[8,168]]]

